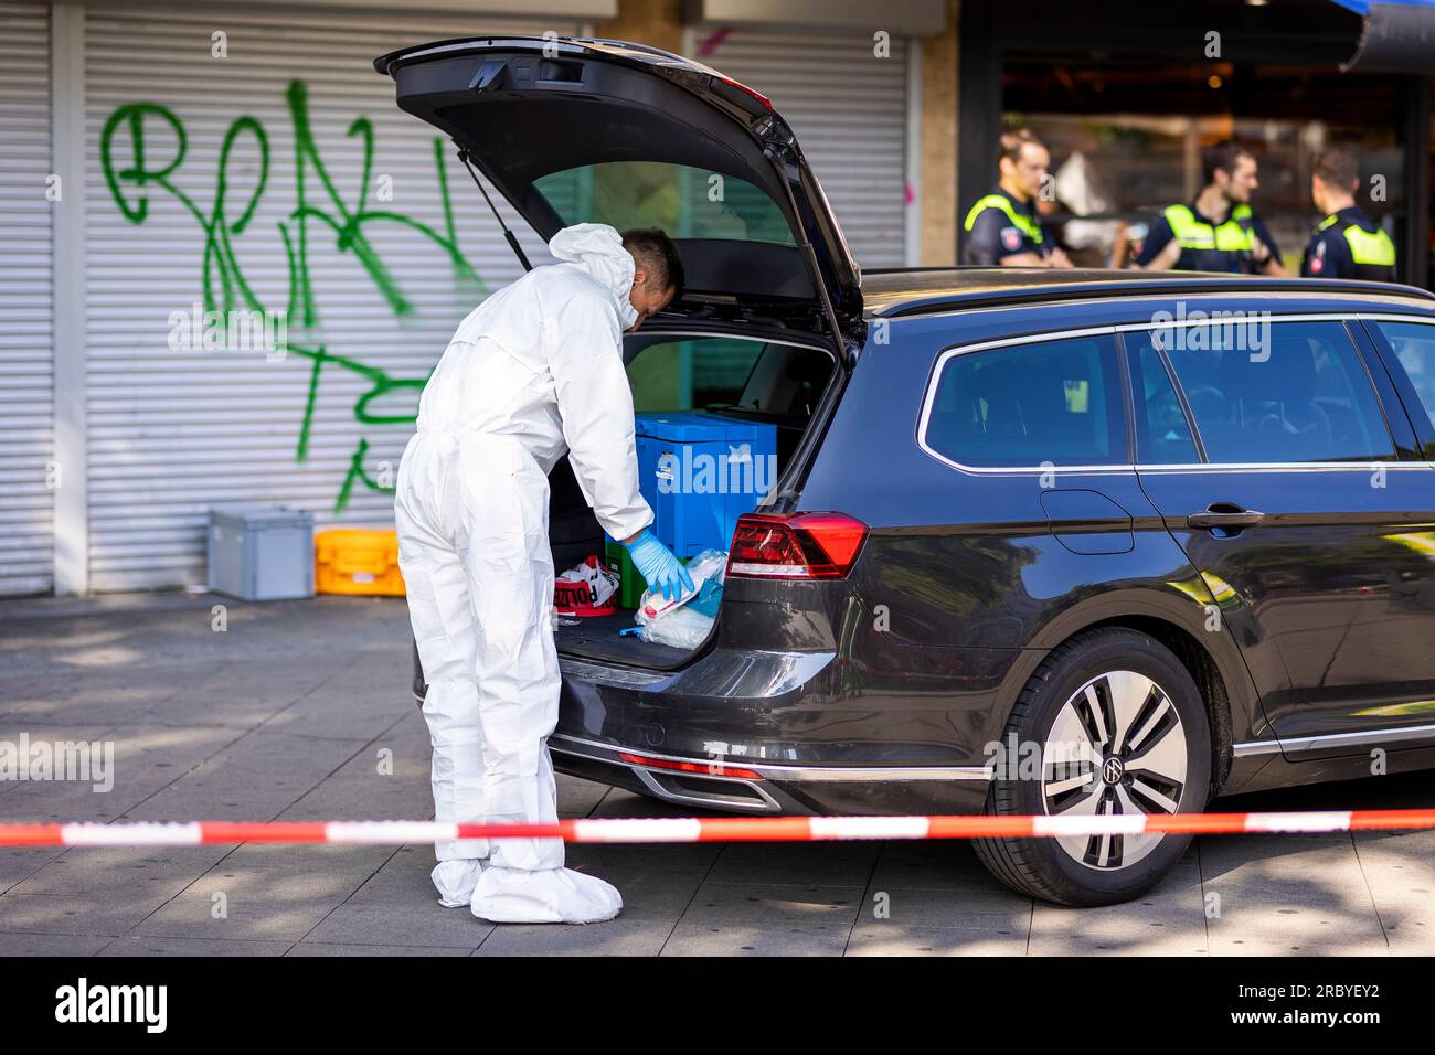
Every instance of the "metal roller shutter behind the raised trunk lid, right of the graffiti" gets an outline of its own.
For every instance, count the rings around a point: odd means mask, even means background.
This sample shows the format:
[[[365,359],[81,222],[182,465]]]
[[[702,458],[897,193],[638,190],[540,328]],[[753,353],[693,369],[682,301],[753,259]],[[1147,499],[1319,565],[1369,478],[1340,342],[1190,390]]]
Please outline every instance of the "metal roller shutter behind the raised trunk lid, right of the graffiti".
[[[907,218],[907,39],[699,29],[695,57],[772,99],[798,133],[862,267],[901,267]]]

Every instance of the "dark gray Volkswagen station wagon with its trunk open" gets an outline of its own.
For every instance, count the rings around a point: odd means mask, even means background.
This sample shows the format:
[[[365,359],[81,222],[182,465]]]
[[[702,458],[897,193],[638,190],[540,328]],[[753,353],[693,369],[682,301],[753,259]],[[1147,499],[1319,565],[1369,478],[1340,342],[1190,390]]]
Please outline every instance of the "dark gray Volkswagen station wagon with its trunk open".
[[[864,281],[786,123],[699,63],[476,39],[376,66],[540,235],[679,235],[687,291],[627,339],[639,411],[776,426],[707,640],[558,627],[561,771],[729,812],[1078,815],[1435,765],[1431,294]],[[550,482],[563,568],[603,538],[565,464]],[[1187,843],[979,853],[1102,904]]]

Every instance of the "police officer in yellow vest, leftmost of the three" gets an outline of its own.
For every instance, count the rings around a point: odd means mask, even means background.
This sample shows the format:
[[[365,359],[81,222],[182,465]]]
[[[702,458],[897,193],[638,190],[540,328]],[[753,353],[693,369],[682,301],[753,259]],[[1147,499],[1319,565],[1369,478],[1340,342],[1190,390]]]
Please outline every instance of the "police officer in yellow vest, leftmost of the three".
[[[992,194],[980,198],[963,222],[963,264],[1004,267],[1071,267],[1062,247],[1038,212],[1038,197],[1052,156],[1046,146],[1022,128],[1002,133],[1002,178]]]

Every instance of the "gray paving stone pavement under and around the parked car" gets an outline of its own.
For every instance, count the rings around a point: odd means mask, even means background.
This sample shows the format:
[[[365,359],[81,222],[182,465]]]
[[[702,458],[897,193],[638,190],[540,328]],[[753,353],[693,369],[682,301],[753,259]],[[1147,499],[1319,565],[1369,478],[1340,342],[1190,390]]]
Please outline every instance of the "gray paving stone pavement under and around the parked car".
[[[227,629],[212,626],[224,604]],[[0,603],[0,741],[112,741],[113,788],[0,782],[0,820],[428,818],[402,600],[195,593]],[[564,817],[687,812],[560,777]],[[1221,808],[1435,805],[1435,774]],[[430,847],[0,848],[10,956],[1435,953],[1435,831],[1198,840],[1144,899],[1033,903],[961,843],[580,845],[624,911],[494,926]]]

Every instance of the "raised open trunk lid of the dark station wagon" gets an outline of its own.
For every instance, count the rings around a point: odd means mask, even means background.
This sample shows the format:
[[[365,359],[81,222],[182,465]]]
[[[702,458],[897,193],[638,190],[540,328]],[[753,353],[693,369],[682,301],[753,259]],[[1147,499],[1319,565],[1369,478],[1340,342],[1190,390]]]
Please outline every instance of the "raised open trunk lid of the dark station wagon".
[[[560,174],[606,168],[633,182],[634,165],[677,167],[679,194],[710,202],[726,228],[669,231],[687,277],[677,313],[745,306],[825,330],[839,362],[850,357],[861,273],[792,129],[758,92],[669,52],[567,37],[445,40],[385,55],[375,69],[545,241],[618,220],[591,182],[584,200]]]

